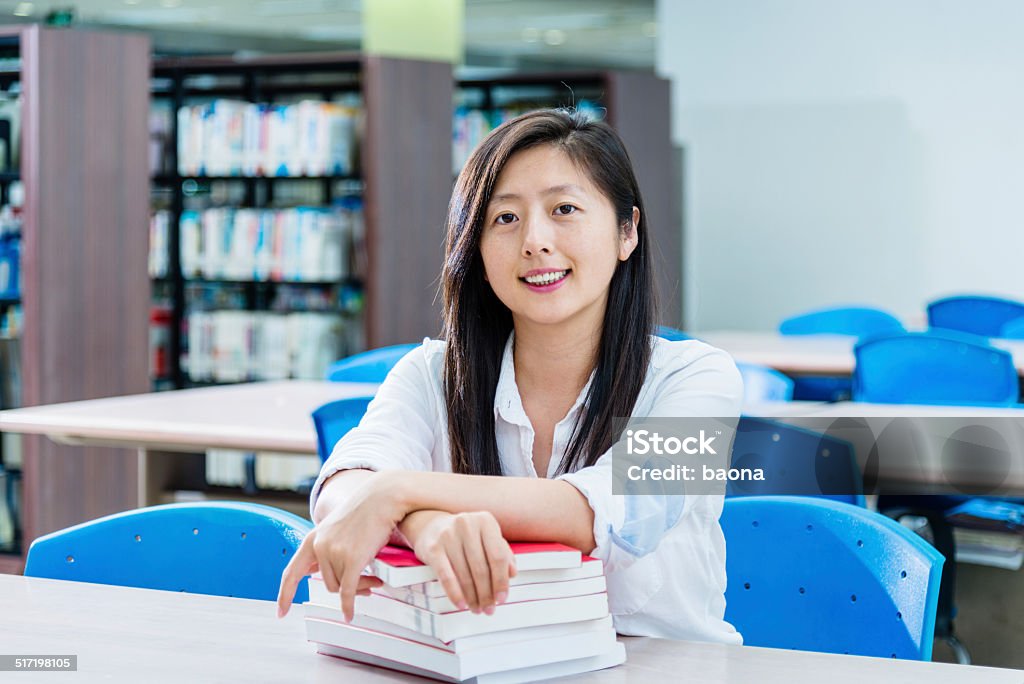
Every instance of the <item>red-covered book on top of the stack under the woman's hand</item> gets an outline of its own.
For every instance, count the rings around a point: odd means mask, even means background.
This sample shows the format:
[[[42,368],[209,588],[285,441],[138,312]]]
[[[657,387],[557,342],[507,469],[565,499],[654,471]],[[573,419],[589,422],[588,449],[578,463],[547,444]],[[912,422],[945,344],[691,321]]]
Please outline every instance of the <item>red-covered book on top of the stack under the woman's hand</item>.
[[[515,555],[516,570],[552,570],[580,567],[583,554],[579,549],[564,544],[519,543],[510,544]],[[370,573],[391,587],[408,587],[437,579],[434,570],[424,565],[412,549],[386,546],[377,553],[370,564]]]

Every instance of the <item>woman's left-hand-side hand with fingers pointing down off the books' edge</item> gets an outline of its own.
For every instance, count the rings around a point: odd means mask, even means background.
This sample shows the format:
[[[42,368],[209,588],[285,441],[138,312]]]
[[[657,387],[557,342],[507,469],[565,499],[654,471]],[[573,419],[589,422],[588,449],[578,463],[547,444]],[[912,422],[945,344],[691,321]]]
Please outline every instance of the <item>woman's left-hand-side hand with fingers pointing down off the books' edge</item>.
[[[328,591],[340,595],[346,622],[352,619],[356,594],[382,584],[361,572],[388,543],[406,511],[381,475],[368,478],[302,541],[281,575],[279,616],[288,612],[299,582],[310,572],[318,570]]]

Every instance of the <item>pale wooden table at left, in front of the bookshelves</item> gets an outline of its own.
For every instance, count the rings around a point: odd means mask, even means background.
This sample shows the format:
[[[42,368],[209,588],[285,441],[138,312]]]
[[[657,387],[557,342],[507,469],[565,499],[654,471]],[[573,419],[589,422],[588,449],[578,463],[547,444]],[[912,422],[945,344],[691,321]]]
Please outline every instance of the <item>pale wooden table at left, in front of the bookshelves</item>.
[[[286,380],[71,401],[2,411],[0,430],[137,450],[135,505],[148,506],[171,487],[204,488],[208,448],[316,454],[313,410],[377,387]]]

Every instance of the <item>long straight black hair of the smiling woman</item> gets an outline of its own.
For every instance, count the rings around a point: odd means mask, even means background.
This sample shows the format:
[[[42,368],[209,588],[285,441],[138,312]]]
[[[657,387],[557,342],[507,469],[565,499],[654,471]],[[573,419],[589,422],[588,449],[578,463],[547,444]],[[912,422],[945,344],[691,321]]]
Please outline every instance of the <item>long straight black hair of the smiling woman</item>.
[[[480,256],[483,217],[499,174],[518,152],[556,146],[614,207],[622,230],[640,210],[637,246],[611,277],[594,379],[559,467],[560,473],[593,465],[618,437],[612,419],[629,417],[650,360],[654,293],[646,213],[633,165],[618,134],[579,112],[541,110],[507,121],[470,156],[449,206],[441,270],[444,305],[444,397],[452,470],[501,475],[495,438],[495,392],[512,312],[484,280]]]

